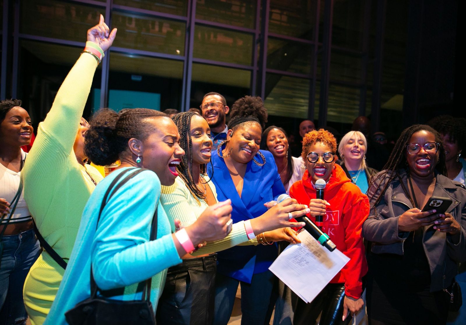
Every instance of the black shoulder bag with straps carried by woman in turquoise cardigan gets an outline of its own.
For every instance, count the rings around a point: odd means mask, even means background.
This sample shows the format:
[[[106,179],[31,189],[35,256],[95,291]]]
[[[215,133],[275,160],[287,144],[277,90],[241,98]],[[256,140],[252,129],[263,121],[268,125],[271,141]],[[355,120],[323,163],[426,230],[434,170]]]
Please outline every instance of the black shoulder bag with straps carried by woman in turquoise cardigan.
[[[126,176],[117,186],[115,184],[123,177],[122,172],[110,184],[107,192],[103,196],[102,204],[100,206],[99,215],[97,217],[97,225],[102,214],[105,204],[110,200],[110,197],[117,192],[117,190],[128,182],[133,176],[146,170],[137,168],[133,170],[130,175]],[[111,193],[110,193],[111,192]],[[97,228],[97,226],[96,226]],[[151,236],[150,240],[157,238],[157,207],[155,209],[154,217],[152,218]],[[65,318],[70,325],[155,325],[154,309],[151,304],[151,283],[152,278],[141,282],[144,283],[144,289],[141,300],[117,300],[104,297],[98,297],[97,291],[100,291],[94,276],[92,275],[92,266],[90,270],[90,297],[79,302],[74,308],[65,312]]]

